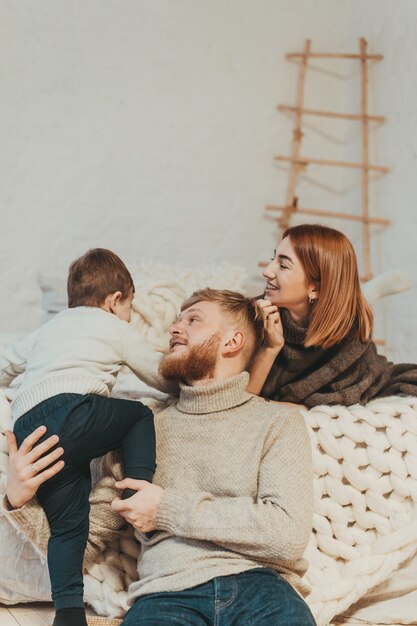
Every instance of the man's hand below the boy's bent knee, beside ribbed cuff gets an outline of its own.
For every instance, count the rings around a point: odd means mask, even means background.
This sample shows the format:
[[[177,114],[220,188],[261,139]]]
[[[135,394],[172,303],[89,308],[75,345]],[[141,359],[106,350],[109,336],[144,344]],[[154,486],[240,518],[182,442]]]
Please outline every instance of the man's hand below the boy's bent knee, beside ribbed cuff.
[[[111,504],[112,509],[143,533],[156,530],[156,509],[161,501],[163,489],[146,480],[133,478],[125,478],[117,482],[116,487],[117,489],[135,489],[137,493],[126,500],[116,498]]]

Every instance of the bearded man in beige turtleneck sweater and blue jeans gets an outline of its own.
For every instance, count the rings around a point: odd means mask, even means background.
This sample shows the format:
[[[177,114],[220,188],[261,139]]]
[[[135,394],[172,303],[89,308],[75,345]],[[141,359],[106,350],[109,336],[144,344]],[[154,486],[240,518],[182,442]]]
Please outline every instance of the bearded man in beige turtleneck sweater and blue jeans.
[[[293,408],[246,391],[262,326],[248,298],[204,289],[170,329],[160,372],[180,396],[155,417],[154,483],[116,483],[137,493],[112,503],[142,545],[123,626],[315,624],[302,598],[306,427]]]

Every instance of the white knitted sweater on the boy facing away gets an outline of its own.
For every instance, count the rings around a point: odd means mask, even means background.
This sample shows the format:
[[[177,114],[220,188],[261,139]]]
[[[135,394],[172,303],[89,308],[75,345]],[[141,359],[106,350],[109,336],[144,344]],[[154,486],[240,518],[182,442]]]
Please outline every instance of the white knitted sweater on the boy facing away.
[[[127,322],[98,307],[75,307],[15,343],[0,356],[0,385],[24,373],[13,418],[59,393],[109,396],[127,365],[138,378],[172,393],[158,373],[162,355]]]

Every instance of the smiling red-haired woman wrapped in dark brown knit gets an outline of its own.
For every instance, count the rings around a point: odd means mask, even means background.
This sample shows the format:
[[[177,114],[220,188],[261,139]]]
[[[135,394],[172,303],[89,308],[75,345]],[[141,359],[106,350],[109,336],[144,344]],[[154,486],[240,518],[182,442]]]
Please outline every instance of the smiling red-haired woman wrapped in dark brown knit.
[[[265,339],[249,391],[308,407],[417,395],[417,365],[393,365],[377,354],[345,235],[318,224],[288,228],[263,275]]]

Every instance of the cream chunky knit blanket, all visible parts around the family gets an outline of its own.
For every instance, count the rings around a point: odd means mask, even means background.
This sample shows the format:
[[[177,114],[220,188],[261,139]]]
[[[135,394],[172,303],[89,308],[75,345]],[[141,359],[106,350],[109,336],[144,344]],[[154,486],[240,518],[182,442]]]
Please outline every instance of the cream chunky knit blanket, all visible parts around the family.
[[[159,349],[190,291],[184,293],[174,282],[151,286],[145,281],[137,288],[141,304],[133,323]],[[127,374],[118,391],[140,397],[154,410],[171,401],[149,394]],[[0,394],[1,429],[11,426],[11,395]],[[320,406],[303,413],[315,474],[313,530],[305,552],[311,586],[307,602],[318,625],[325,626],[417,552],[417,398],[377,399],[365,407]],[[119,467],[113,470],[117,476]],[[0,491],[6,473],[7,446],[0,436]],[[87,566],[85,596],[99,614],[118,617],[127,610],[138,550],[132,531],[124,530]]]

